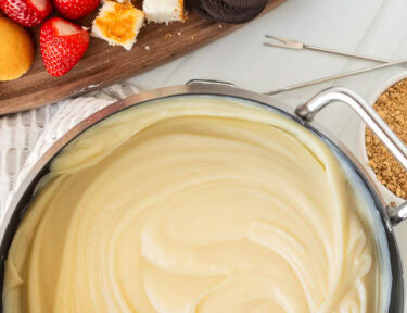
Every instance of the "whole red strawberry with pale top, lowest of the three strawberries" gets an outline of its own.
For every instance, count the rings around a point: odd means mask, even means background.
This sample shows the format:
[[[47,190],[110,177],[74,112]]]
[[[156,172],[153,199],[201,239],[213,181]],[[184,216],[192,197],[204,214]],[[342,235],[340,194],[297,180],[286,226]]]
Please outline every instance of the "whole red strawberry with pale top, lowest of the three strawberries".
[[[39,42],[48,73],[62,76],[78,63],[88,49],[89,34],[72,22],[53,17],[42,24]]]

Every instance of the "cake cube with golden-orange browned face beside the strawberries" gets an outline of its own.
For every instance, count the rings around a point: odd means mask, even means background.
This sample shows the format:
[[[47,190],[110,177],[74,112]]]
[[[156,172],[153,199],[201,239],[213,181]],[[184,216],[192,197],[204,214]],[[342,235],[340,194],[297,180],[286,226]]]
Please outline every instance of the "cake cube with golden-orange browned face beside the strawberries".
[[[112,46],[119,45],[131,50],[143,24],[144,13],[136,9],[130,1],[105,1],[93,21],[91,35]]]

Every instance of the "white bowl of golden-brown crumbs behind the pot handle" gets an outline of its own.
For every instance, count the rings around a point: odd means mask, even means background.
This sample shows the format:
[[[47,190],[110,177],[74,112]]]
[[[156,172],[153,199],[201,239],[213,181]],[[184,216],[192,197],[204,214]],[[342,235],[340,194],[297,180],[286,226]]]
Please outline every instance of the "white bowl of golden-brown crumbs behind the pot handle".
[[[407,145],[407,72],[383,85],[372,98],[376,112]],[[370,176],[378,183],[387,204],[407,199],[407,171],[393,156],[369,127],[360,127],[360,156]]]

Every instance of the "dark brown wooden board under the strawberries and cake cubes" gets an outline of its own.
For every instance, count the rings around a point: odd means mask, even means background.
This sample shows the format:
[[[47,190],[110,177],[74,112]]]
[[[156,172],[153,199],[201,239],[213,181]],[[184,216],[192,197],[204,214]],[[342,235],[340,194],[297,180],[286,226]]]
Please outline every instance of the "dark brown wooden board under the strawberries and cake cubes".
[[[263,14],[285,0],[270,0]],[[90,27],[97,12],[78,22]],[[35,62],[23,77],[0,83],[0,115],[53,103],[103,88],[189,53],[243,26],[206,21],[190,13],[186,23],[151,23],[143,27],[131,51],[90,37],[87,52],[65,76],[52,77],[43,67],[37,46]],[[38,42],[39,28],[33,29]]]

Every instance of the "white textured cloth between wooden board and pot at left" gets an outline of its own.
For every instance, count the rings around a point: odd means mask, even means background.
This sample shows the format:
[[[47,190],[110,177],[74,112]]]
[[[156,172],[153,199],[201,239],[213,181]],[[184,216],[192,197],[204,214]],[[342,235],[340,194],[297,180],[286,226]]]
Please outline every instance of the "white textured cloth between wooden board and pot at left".
[[[0,215],[31,166],[66,132],[104,107],[137,93],[129,84],[0,118]]]

